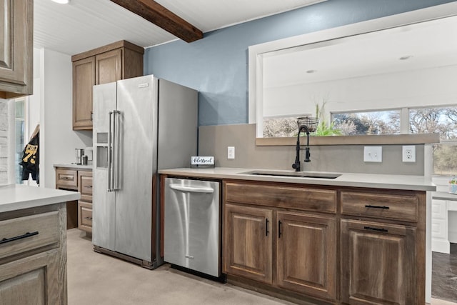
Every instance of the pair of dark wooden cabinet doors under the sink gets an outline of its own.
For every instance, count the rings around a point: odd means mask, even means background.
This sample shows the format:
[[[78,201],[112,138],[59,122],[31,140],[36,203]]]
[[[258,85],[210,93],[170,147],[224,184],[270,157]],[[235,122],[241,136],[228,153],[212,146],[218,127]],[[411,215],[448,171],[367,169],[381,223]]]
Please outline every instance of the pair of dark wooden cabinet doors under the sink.
[[[224,213],[224,272],[336,298],[335,219],[232,204],[225,205]]]

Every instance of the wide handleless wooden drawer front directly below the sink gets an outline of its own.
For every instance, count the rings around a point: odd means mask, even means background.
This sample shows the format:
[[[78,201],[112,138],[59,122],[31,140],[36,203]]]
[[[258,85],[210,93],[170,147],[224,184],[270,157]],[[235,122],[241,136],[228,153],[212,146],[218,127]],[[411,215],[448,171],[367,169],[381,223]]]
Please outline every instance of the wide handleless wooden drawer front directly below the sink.
[[[328,189],[226,182],[224,196],[241,204],[336,213],[337,191]]]

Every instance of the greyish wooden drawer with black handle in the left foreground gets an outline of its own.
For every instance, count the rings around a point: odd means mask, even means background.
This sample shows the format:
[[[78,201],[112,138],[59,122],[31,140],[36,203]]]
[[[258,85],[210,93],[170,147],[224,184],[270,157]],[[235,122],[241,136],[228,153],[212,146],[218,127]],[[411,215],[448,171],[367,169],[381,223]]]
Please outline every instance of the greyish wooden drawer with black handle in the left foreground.
[[[59,241],[59,211],[0,221],[0,259]]]

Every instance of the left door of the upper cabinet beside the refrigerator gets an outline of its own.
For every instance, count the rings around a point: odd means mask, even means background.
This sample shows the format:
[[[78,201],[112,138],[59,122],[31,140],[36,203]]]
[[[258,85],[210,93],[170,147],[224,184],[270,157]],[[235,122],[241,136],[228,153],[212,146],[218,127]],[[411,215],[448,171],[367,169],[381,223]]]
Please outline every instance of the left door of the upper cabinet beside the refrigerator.
[[[73,129],[92,129],[92,87],[95,58],[73,62]]]

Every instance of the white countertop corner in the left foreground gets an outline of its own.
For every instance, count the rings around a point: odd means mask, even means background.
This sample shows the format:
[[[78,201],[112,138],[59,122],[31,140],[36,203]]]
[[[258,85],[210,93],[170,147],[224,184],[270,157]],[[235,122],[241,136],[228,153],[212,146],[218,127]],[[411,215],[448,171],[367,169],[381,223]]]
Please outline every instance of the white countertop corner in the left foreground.
[[[44,187],[9,184],[0,186],[0,213],[46,206],[81,198],[76,191],[46,189]]]

